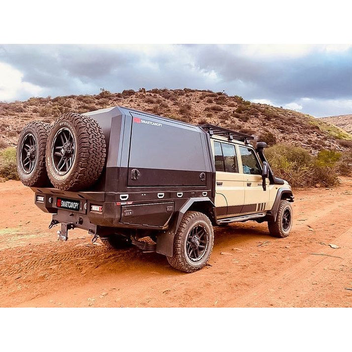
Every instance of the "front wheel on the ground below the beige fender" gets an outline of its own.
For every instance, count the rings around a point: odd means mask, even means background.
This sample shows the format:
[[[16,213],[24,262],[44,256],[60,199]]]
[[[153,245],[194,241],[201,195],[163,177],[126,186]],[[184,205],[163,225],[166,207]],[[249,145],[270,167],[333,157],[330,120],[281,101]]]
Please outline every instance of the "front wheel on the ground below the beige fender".
[[[269,232],[274,237],[287,237],[293,223],[293,212],[291,203],[281,200],[275,221],[268,221]]]

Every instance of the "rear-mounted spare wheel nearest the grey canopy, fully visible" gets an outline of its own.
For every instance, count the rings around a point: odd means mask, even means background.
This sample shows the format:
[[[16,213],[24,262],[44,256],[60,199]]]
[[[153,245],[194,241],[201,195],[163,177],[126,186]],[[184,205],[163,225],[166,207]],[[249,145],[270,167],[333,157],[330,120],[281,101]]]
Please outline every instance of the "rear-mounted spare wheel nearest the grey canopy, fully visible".
[[[51,183],[62,191],[82,191],[99,179],[106,159],[106,142],[98,122],[66,113],[51,128],[46,168]]]

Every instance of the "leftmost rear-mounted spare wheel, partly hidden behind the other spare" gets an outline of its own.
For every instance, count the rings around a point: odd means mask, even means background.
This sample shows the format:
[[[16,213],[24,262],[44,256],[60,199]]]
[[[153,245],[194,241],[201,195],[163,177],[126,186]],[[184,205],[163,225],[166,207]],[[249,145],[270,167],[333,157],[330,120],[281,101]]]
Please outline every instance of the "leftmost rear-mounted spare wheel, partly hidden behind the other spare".
[[[51,125],[32,121],[21,132],[16,152],[17,172],[28,187],[50,185],[45,167],[45,148]]]

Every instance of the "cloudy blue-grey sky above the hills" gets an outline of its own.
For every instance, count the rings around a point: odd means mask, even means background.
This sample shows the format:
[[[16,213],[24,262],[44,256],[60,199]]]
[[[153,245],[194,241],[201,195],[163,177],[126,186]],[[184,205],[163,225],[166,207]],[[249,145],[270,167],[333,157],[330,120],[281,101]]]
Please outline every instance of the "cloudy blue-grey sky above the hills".
[[[210,89],[316,117],[352,113],[348,45],[0,45],[0,101]]]

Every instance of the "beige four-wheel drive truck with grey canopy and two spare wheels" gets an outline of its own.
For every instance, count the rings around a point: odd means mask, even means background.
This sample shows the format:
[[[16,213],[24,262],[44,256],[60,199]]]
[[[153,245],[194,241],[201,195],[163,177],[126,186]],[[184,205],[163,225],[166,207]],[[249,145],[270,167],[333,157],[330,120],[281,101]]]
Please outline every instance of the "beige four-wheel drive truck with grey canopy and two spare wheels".
[[[213,226],[267,221],[273,236],[292,227],[291,187],[276,178],[252,136],[114,107],[31,122],[17,153],[35,203],[61,223],[112,247],[134,244],[191,273],[213,249]]]

